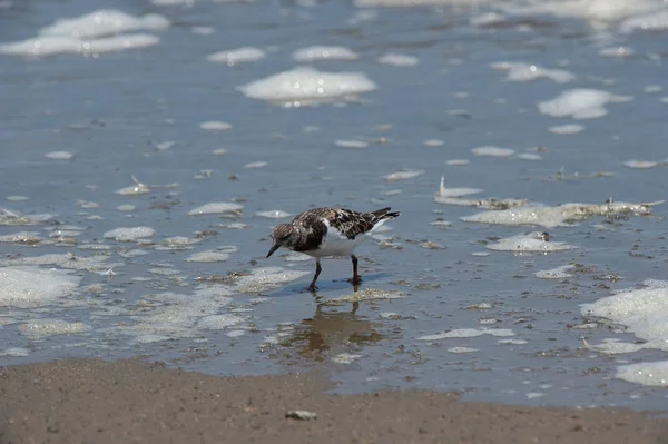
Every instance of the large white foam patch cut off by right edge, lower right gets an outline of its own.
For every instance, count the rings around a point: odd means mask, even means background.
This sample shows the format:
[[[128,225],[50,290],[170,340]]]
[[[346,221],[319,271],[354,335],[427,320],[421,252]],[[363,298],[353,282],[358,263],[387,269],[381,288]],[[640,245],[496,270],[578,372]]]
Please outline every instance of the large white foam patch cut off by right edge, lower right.
[[[647,341],[642,348],[668,351],[668,283],[646,282],[631,289],[582,305],[584,316],[608,318]]]

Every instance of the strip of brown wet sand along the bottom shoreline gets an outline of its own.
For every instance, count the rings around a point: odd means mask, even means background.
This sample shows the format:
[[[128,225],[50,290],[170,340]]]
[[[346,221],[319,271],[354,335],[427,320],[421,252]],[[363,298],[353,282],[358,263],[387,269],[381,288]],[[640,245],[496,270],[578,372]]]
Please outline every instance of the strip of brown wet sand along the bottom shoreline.
[[[627,410],[328,387],[312,374],[218,377],[137,359],[2,367],[0,443],[668,443],[668,420]]]

